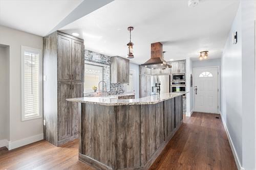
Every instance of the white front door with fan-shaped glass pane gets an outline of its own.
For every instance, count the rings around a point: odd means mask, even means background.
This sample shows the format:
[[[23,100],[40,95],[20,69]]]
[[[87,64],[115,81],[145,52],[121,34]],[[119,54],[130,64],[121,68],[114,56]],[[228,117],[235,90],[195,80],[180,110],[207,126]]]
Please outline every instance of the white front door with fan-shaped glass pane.
[[[218,113],[218,67],[194,68],[196,112]]]

